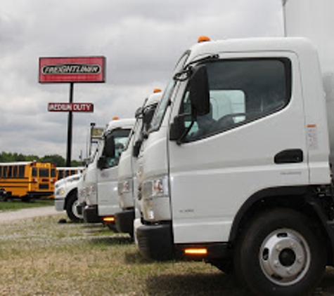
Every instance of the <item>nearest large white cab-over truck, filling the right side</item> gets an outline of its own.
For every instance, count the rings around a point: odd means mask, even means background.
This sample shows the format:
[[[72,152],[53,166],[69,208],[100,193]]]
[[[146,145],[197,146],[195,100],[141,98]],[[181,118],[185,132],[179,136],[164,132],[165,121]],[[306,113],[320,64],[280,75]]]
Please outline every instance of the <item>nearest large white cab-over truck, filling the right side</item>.
[[[300,37],[186,51],[139,154],[141,254],[205,260],[255,295],[312,290],[334,265],[331,66]]]

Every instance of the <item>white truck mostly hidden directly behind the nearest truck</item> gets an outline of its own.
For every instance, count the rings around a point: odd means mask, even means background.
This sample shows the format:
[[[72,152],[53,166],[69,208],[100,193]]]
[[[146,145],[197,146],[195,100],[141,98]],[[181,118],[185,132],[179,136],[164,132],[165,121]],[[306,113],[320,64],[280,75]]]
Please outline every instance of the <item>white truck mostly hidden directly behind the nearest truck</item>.
[[[122,152],[118,164],[118,199],[121,210],[115,214],[115,227],[118,232],[127,233],[131,237],[134,234],[134,217],[139,217],[139,214],[136,215],[135,213],[134,206],[138,192],[136,190],[138,188],[136,177],[137,156],[160,98],[161,90],[155,88],[153,93],[145,100],[143,107],[136,111],[136,123],[129,136],[129,144],[127,149]]]

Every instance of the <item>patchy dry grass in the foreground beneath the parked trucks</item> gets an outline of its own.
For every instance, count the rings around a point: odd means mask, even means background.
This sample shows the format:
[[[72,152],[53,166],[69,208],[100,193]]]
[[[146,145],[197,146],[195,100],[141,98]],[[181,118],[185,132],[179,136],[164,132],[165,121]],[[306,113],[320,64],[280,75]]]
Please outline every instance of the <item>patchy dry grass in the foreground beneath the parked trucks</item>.
[[[0,295],[248,295],[210,264],[150,262],[125,234],[60,218],[1,224]],[[333,280],[329,269],[314,295],[334,295]]]

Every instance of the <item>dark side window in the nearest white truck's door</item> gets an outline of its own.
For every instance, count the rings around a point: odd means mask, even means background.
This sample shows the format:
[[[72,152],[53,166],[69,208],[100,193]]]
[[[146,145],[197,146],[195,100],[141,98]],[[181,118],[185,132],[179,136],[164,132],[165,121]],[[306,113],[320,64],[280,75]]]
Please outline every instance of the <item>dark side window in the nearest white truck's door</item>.
[[[188,91],[181,114],[186,141],[199,140],[254,121],[285,107],[290,100],[290,60],[285,58],[220,60],[206,64],[210,114],[191,117]]]

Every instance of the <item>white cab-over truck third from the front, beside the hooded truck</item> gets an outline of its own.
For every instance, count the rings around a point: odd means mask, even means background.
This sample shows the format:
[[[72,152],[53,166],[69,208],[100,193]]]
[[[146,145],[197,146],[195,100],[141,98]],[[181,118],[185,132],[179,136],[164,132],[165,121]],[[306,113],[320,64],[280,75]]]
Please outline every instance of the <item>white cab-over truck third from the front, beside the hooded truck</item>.
[[[110,121],[103,133],[103,139],[98,142],[96,152],[84,170],[84,222],[103,222],[110,229],[115,229],[115,213],[120,211],[117,196],[118,162],[127,145],[134,121],[135,119]]]

